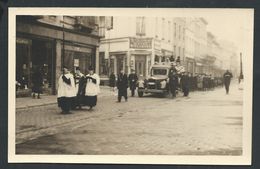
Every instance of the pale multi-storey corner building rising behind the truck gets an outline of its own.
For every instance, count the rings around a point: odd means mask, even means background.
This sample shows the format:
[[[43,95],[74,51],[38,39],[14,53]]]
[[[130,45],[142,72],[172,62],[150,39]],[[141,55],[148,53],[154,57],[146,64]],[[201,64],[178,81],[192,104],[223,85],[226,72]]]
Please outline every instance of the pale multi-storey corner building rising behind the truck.
[[[127,25],[127,26],[126,26]],[[148,76],[155,62],[185,58],[185,19],[164,17],[113,17],[113,29],[105,31],[100,44],[100,59],[107,70],[100,72],[105,80],[110,73],[134,69]],[[105,67],[105,66],[103,66]]]

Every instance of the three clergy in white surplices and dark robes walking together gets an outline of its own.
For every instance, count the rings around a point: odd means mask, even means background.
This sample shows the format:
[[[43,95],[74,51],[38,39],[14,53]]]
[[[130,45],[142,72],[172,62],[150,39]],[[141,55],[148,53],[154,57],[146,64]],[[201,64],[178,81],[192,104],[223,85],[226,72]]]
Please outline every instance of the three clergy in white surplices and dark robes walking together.
[[[67,67],[58,81],[58,106],[62,114],[70,114],[70,110],[82,109],[88,106],[92,110],[97,104],[97,95],[100,92],[100,78],[94,73],[93,67],[89,67],[89,73],[84,75],[77,67],[73,75]]]

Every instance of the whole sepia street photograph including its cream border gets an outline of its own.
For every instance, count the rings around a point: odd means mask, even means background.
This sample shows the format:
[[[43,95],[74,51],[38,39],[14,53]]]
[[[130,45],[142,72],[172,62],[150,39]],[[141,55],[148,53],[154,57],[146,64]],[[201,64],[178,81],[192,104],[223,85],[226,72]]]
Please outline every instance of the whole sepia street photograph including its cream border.
[[[251,164],[253,16],[10,8],[9,162]]]

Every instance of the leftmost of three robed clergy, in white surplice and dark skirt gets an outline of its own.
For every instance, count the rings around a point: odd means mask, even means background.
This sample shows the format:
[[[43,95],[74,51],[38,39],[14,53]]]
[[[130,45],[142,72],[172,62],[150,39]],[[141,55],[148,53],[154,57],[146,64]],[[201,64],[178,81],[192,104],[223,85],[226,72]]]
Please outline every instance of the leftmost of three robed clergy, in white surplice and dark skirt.
[[[62,114],[71,113],[71,104],[76,97],[76,87],[73,75],[68,68],[63,68],[58,81],[58,106],[62,110]]]

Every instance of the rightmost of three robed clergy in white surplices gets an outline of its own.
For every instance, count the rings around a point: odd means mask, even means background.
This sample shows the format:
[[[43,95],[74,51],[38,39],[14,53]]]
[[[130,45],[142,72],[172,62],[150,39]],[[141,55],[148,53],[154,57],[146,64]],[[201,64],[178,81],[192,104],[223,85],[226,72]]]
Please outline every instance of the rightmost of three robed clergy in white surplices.
[[[86,75],[86,83],[84,105],[89,106],[89,110],[91,110],[94,106],[96,106],[97,95],[100,92],[100,78],[94,73],[92,67],[89,67],[89,74]]]

